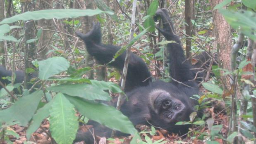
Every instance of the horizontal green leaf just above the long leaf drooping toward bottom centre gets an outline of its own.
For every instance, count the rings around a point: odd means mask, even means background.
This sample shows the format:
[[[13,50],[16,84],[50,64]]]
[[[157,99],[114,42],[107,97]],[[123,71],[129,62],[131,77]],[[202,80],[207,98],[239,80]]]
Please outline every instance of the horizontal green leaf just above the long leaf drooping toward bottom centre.
[[[110,101],[111,97],[109,96],[108,92],[105,92],[104,87],[98,87],[96,85],[90,84],[62,84],[62,85],[55,85],[48,87],[47,90],[53,92],[62,92],[64,94],[68,94],[71,96],[77,96],[84,99],[99,99]]]

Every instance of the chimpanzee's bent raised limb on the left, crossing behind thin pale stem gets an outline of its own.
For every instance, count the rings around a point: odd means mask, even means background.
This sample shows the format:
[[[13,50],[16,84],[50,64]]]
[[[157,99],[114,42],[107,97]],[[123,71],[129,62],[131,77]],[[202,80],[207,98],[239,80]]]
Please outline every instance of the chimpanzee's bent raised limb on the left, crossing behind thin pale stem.
[[[101,43],[100,24],[93,24],[93,29],[86,33],[79,33],[77,35],[84,40],[86,49],[93,57],[95,57],[101,64],[107,64],[111,61],[115,53],[120,50],[120,47],[114,45],[103,45]],[[111,66],[115,66],[120,71],[124,67],[124,59],[126,53],[124,52],[115,59]],[[134,54],[131,54],[129,59],[129,66],[127,71],[127,78],[125,83],[125,91],[132,90],[138,86],[146,86],[152,81],[151,74],[145,62]]]

